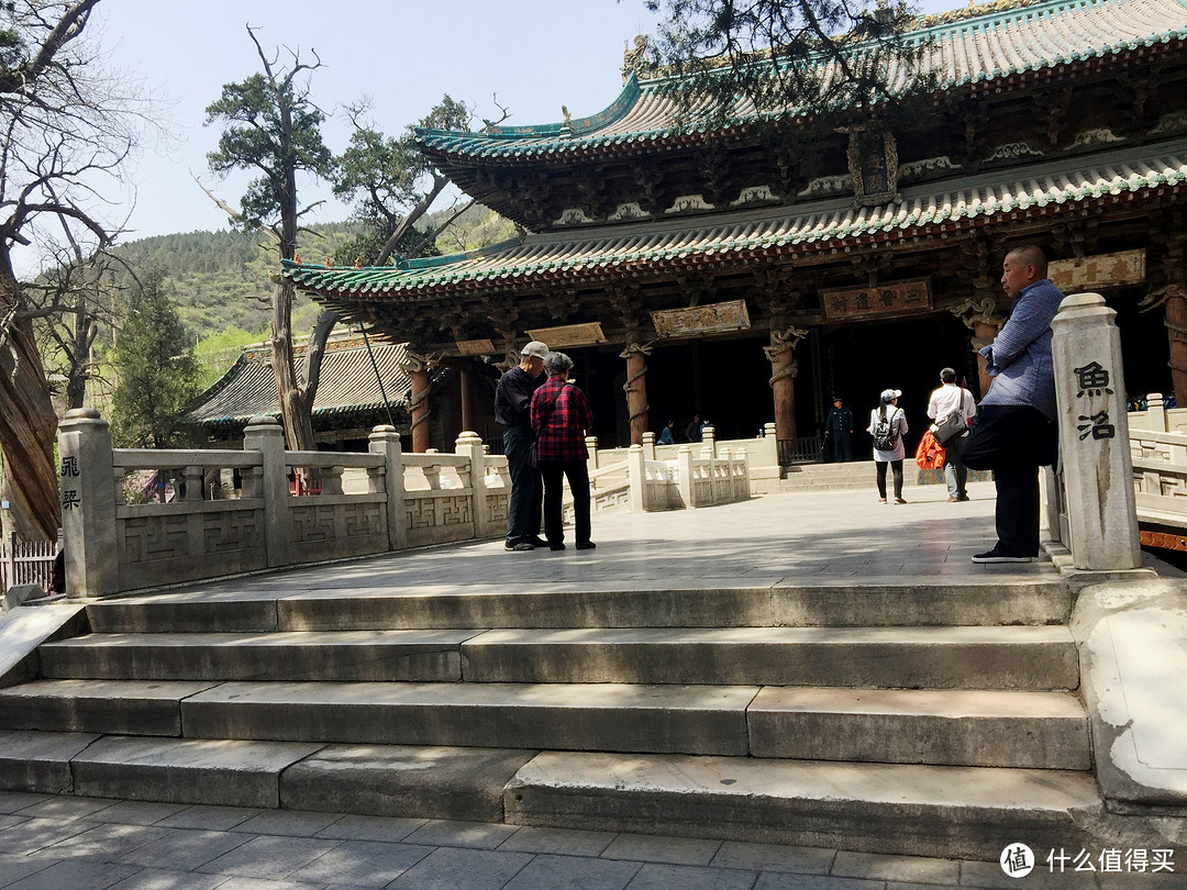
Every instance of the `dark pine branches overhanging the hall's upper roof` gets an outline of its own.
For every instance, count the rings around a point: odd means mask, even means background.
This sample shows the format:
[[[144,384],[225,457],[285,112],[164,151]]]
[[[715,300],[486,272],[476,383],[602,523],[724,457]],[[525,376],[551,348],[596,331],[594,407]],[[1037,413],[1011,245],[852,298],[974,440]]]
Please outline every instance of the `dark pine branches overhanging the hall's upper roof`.
[[[878,0],[647,0],[660,12],[655,61],[685,122],[719,126],[753,107],[757,120],[821,112],[869,116],[929,89],[922,45],[902,34],[906,4]],[[636,65],[646,65],[645,49]],[[748,113],[748,112],[745,112]]]

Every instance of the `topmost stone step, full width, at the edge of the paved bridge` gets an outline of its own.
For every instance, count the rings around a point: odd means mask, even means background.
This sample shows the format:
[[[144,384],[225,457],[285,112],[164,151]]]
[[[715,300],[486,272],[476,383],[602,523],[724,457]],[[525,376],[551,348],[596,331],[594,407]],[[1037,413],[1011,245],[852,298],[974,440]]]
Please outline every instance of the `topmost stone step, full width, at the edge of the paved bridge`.
[[[1059,578],[886,584],[622,590],[591,584],[509,593],[470,587],[430,593],[389,589],[315,590],[260,598],[159,595],[91,603],[96,632],[208,630],[388,630],[490,628],[817,627],[915,624],[1064,624],[1072,595]]]

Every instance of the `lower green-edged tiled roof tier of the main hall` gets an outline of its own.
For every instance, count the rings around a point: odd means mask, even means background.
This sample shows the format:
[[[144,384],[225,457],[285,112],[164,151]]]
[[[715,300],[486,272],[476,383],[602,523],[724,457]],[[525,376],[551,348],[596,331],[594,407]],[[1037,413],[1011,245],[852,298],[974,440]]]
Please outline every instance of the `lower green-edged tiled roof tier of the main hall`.
[[[853,209],[831,199],[773,211],[702,217],[696,223],[621,223],[575,233],[553,231],[455,258],[447,263],[408,261],[399,268],[325,268],[286,262],[298,287],[335,298],[387,294],[415,298],[469,287],[491,287],[558,278],[596,279],[654,267],[728,262],[760,255],[808,253],[840,244],[870,243],[913,234],[969,228],[1016,212],[1046,214],[1060,205],[1157,187],[1187,187],[1187,142],[1143,158],[1099,155],[1080,170],[1066,161],[989,176],[929,183],[903,190],[903,201]]]

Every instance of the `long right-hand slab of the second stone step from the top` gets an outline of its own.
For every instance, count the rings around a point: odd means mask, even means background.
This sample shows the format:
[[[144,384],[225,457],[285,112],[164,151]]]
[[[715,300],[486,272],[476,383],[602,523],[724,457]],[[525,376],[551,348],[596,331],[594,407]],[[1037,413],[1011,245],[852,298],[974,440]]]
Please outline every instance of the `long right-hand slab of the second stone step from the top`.
[[[1074,689],[1066,627],[504,629],[462,647],[475,682]]]

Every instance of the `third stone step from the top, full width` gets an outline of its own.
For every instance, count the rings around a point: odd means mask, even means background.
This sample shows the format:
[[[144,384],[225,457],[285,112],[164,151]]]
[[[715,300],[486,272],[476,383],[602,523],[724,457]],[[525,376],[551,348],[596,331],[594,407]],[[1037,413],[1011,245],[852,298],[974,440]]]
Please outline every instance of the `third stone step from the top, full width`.
[[[0,692],[0,727],[137,735],[140,697],[154,686],[96,681],[84,695],[80,681],[26,684]],[[1053,693],[280,682],[176,691],[184,694],[151,700],[159,735],[1088,768],[1084,711]]]

